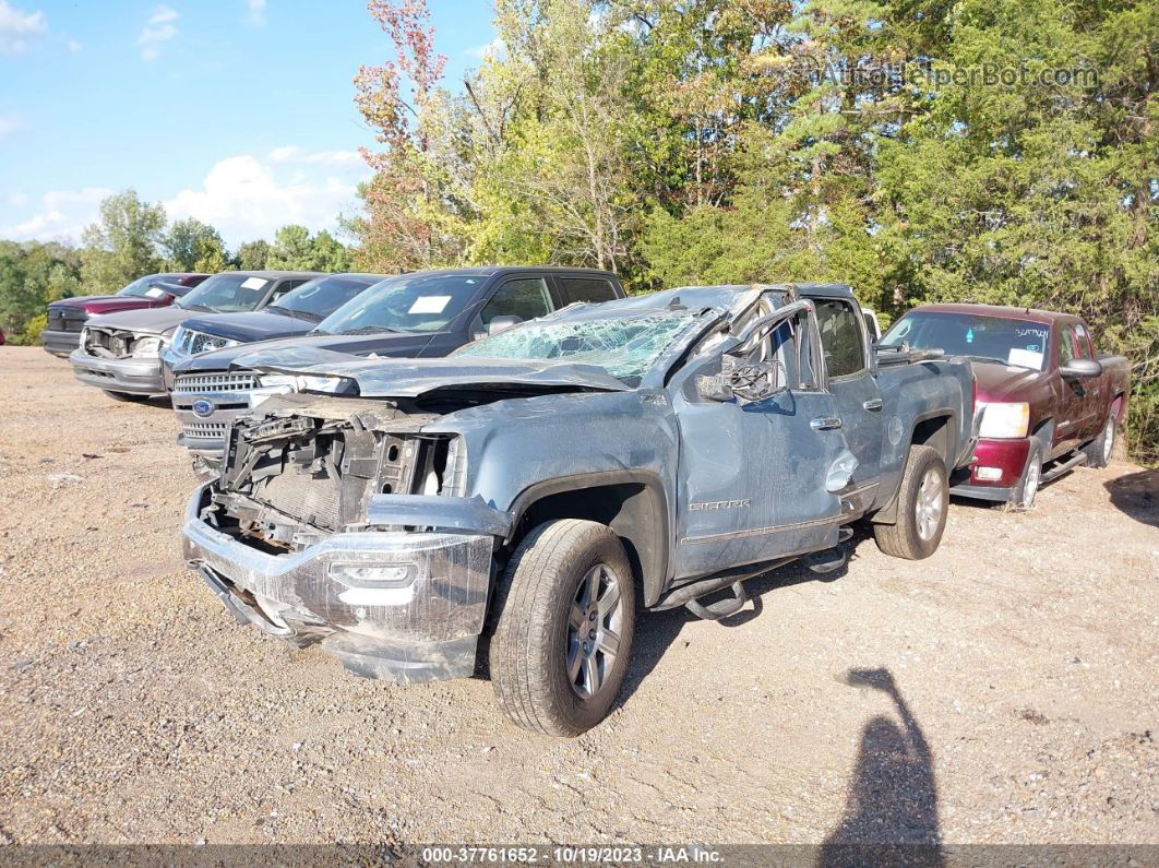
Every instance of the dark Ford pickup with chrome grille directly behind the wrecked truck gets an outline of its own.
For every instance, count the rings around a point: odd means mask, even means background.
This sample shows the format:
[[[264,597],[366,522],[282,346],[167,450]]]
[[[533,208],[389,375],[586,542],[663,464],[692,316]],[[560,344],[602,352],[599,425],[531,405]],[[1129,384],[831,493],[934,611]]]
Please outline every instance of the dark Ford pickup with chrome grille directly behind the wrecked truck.
[[[229,347],[178,362],[170,388],[182,426],[177,443],[216,459],[235,416],[286,391],[284,386],[263,386],[236,364],[239,357],[257,349],[293,347],[351,356],[430,358],[577,301],[624,297],[615,275],[592,269],[487,265],[389,277],[304,335]]]

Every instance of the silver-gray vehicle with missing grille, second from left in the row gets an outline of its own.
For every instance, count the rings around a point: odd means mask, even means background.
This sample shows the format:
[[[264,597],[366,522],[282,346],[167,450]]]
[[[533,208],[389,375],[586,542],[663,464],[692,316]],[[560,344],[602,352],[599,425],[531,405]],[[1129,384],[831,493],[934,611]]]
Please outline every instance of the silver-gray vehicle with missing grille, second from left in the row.
[[[261,311],[316,271],[223,271],[168,307],[92,318],[68,357],[76,379],[117,401],[166,393],[161,352],[185,320],[205,313]]]

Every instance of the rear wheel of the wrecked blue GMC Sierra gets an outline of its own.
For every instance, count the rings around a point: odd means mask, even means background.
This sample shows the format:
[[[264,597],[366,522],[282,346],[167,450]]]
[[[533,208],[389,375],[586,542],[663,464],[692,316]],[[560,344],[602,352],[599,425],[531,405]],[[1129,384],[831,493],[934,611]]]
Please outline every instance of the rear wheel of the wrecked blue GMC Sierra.
[[[877,548],[910,561],[928,557],[938,550],[948,512],[946,462],[930,446],[910,446],[897,493],[897,523],[873,526]]]

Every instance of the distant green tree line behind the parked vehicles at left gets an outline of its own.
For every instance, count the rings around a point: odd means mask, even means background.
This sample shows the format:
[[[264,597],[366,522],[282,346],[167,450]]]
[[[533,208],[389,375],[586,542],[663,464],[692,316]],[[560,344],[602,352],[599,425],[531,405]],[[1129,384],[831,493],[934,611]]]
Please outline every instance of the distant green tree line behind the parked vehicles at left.
[[[247,241],[232,253],[212,226],[166,220],[165,207],[125,190],[105,198],[81,246],[0,240],[0,328],[13,343],[39,343],[50,301],[114,293],[159,271],[349,271],[353,254],[329,232],[283,226],[272,243]]]

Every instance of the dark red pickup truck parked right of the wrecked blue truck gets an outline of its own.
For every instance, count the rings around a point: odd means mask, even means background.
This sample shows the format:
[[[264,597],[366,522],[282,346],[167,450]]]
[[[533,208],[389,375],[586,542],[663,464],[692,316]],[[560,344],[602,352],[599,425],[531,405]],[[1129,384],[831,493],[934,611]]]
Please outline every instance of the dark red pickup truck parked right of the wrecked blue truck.
[[[950,491],[1028,508],[1043,482],[1080,464],[1103,467],[1127,413],[1130,369],[1095,355],[1079,316],[1023,307],[926,305],[881,345],[967,356],[977,378],[978,445]]]

